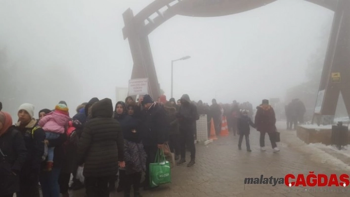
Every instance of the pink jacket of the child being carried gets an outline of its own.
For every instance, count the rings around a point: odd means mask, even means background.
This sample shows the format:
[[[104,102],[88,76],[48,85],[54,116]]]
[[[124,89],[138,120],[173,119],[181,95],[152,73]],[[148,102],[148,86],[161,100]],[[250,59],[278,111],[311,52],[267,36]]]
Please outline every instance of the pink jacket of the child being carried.
[[[44,129],[44,131],[64,133],[64,127],[68,125],[69,120],[69,116],[59,112],[51,112],[44,116],[38,124]]]

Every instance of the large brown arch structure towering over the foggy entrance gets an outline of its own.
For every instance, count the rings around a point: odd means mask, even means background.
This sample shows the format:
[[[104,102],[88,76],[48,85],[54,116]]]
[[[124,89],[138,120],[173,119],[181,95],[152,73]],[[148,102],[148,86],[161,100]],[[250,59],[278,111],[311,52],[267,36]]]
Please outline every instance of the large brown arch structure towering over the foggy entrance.
[[[123,13],[124,39],[129,40],[133,68],[131,79],[148,78],[149,93],[160,95],[160,86],[154,66],[148,35],[175,15],[191,17],[217,17],[236,14],[262,7],[276,0],[154,0],[138,14],[129,8]],[[324,69],[319,90],[325,90],[320,116],[334,116],[339,93],[350,102],[350,0],[305,0],[335,12]],[[155,16],[152,18],[152,16]],[[332,73],[341,73],[342,80],[331,81]],[[337,95],[338,94],[338,95]],[[346,102],[348,114],[350,103]]]

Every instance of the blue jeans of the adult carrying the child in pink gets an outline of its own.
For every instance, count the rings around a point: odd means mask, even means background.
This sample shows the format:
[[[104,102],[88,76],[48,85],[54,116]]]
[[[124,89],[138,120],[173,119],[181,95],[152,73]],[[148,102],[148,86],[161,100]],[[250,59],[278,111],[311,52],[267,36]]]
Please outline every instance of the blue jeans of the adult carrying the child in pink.
[[[58,177],[61,168],[53,167],[50,172],[42,171],[40,173],[39,181],[42,186],[43,197],[59,197]]]

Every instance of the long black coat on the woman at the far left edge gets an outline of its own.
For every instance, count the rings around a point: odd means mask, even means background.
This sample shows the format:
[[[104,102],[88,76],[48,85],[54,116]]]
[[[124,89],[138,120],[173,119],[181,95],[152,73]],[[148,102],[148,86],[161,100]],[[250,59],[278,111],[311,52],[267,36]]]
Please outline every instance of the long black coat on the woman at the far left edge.
[[[10,167],[10,169],[0,168],[0,196],[5,196],[19,191],[19,177],[12,172],[19,174],[21,171],[27,157],[27,149],[23,136],[13,126],[0,136],[0,149],[7,156],[3,158],[0,153],[0,162],[5,159]]]

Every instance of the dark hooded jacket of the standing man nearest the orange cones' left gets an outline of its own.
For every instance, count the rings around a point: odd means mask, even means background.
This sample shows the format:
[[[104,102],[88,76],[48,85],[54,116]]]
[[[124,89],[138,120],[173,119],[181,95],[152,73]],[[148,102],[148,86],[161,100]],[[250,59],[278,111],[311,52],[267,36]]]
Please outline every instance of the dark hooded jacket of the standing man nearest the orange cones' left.
[[[182,103],[176,117],[179,120],[180,131],[196,132],[196,120],[199,119],[197,106],[194,105],[187,94],[182,95],[186,103]]]

